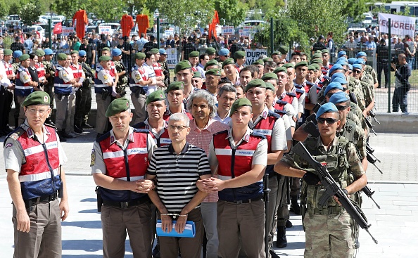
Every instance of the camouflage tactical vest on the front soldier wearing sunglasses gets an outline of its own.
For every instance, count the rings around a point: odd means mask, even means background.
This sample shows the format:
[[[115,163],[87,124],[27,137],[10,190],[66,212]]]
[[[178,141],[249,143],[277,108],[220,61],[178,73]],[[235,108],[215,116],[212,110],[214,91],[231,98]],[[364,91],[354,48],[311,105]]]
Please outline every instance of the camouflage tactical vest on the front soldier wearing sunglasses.
[[[310,137],[305,141],[305,147],[308,149],[312,157],[318,162],[324,164],[328,169],[332,178],[341,186],[346,188],[350,183],[348,182],[348,157],[347,157],[347,138],[338,136],[338,146],[333,147],[333,151],[329,154],[322,154],[317,148],[318,138]],[[310,167],[308,162],[303,160],[298,155],[295,155],[294,161],[301,169],[308,169],[309,172],[317,174],[317,172]],[[303,181],[301,189],[301,205],[306,205],[306,209],[310,216],[313,214],[338,214],[341,212],[341,206],[337,204],[334,198],[329,198],[327,205],[319,206],[319,199],[326,192],[323,186],[310,186]]]

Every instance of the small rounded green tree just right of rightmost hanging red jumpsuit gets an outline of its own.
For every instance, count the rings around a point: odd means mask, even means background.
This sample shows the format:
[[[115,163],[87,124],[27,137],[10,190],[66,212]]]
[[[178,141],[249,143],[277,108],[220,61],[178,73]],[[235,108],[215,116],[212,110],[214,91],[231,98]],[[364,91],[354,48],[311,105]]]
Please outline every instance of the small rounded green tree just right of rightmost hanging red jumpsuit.
[[[221,23],[238,26],[246,18],[248,5],[239,0],[216,0],[215,10]]]

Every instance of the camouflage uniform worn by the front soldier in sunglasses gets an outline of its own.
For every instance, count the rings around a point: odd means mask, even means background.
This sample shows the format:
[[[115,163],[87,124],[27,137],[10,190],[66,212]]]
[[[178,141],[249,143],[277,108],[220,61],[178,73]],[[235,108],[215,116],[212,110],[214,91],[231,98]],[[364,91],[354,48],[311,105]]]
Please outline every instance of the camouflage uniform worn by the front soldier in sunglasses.
[[[329,150],[325,148],[320,137],[310,137],[304,145],[318,162],[327,162],[329,173],[341,188],[346,188],[353,182],[353,177],[348,176],[348,168],[355,178],[365,174],[353,143],[343,136],[334,138]],[[281,161],[296,169],[317,173],[308,162],[295,153],[286,155]],[[334,198],[330,198],[324,207],[318,205],[319,198],[324,192],[322,186],[308,186],[303,181],[300,202],[306,231],[304,255],[309,258],[354,257],[353,221],[346,209],[338,205]]]

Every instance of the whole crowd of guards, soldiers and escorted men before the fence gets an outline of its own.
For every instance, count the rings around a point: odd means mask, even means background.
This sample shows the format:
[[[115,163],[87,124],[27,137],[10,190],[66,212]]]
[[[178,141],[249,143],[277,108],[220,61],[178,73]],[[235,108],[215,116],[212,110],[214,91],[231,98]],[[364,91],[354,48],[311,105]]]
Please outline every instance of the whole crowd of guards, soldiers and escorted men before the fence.
[[[126,233],[134,257],[200,257],[203,243],[204,257],[277,257],[273,237],[277,233],[276,247],[287,246],[289,204],[303,217],[305,257],[353,257],[358,226],[338,198],[319,204],[320,179],[291,148],[303,142],[344,193],[361,203],[367,122],[379,86],[365,52],[348,58],[339,51],[331,63],[327,48],[294,51],[286,60],[289,49],[280,46],[245,65],[245,50],[208,47],[204,53],[186,52],[171,82],[165,49],[148,49],[145,43],[127,69],[123,55],[132,53],[102,41],[91,49],[97,63],[82,44],[70,53],[0,51],[0,121],[1,132],[8,134],[4,157],[14,204],[15,255],[61,255],[58,243],[43,248],[51,234],[60,239],[61,231],[55,226],[48,238],[34,240],[35,228],[49,223],[60,228],[60,217],[68,213],[61,169],[67,158],[60,142],[91,128],[94,89],[97,136],[91,172],[98,186],[104,257],[123,257]],[[84,42],[90,44],[89,35]],[[407,56],[399,54],[393,64],[398,89],[393,111],[400,105],[407,112],[408,68]],[[8,124],[13,99],[20,107],[13,114],[15,129]],[[44,156],[34,157],[37,153]],[[267,181],[271,191],[263,193]],[[38,205],[56,216],[39,222]],[[161,231],[177,235],[159,236],[151,250],[157,220]],[[182,237],[191,222],[194,238]]]

